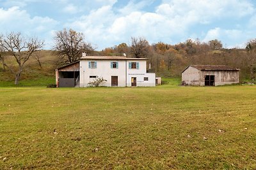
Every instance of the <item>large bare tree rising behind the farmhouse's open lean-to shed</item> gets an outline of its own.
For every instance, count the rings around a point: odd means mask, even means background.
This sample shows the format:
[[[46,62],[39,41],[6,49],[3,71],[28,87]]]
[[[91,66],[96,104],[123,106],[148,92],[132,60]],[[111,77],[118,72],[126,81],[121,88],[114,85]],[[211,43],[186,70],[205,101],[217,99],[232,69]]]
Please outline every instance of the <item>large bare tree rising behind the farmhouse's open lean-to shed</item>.
[[[82,32],[76,32],[72,29],[57,31],[54,41],[54,50],[58,52],[60,65],[76,62],[81,57],[82,52],[90,53],[94,50],[90,43],[84,42]]]

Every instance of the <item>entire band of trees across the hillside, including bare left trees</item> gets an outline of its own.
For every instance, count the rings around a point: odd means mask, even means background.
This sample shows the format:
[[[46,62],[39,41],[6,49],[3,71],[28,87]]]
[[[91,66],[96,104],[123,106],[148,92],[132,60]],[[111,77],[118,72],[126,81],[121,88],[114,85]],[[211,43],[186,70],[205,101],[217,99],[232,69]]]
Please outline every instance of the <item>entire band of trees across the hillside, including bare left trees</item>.
[[[177,45],[158,42],[150,45],[145,38],[131,38],[129,45],[121,43],[104,50],[95,51],[95,48],[84,40],[81,32],[72,29],[55,32],[53,37],[52,58],[57,57],[55,68],[76,62],[82,52],[88,55],[111,55],[127,57],[145,57],[148,59],[148,68],[157,76],[177,77],[191,64],[227,65],[241,69],[241,80],[255,81],[256,76],[256,39],[249,41],[246,48],[223,48],[218,39],[207,43],[198,39]],[[32,57],[36,59],[40,68],[44,41],[37,38],[24,38],[20,32],[0,34],[0,71],[10,72],[15,77],[15,84]]]

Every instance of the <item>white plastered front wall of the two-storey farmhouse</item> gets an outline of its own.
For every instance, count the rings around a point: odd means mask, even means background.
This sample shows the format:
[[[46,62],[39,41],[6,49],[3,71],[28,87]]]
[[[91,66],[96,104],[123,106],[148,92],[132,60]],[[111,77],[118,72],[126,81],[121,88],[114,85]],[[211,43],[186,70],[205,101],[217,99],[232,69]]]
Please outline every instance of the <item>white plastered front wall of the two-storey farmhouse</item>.
[[[88,62],[97,62],[97,68],[89,68]],[[111,68],[111,62],[118,62],[118,68]],[[129,62],[139,62],[139,69],[129,69]],[[147,73],[146,60],[90,60],[80,61],[80,87],[88,87],[88,83],[93,81],[90,76],[99,76],[105,81],[100,86],[111,87],[111,76],[118,76],[118,87],[131,87],[131,78],[136,77],[136,86],[155,86],[156,74]],[[147,77],[148,80],[144,81]]]

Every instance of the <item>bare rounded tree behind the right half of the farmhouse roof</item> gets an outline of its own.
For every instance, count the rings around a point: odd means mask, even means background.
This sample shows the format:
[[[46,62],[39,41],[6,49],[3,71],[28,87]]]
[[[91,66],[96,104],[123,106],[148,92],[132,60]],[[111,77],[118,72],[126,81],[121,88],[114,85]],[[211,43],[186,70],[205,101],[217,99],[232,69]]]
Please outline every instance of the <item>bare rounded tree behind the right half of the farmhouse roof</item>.
[[[144,38],[131,38],[131,55],[136,58],[146,57],[148,55],[148,41]]]

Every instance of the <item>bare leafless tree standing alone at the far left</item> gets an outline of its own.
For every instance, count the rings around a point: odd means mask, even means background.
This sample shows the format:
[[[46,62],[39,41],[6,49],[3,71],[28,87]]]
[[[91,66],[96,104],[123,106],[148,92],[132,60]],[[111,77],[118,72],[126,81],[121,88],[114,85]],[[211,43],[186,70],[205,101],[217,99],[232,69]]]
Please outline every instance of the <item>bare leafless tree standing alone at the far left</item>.
[[[17,67],[7,64],[1,55],[1,62],[7,67],[13,74],[15,74],[15,85],[19,83],[20,74],[24,70],[25,63],[29,57],[36,51],[41,50],[44,45],[44,41],[37,38],[24,38],[20,32],[12,32],[0,39],[0,48],[8,55],[11,55],[17,62]]]

